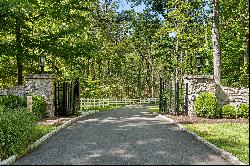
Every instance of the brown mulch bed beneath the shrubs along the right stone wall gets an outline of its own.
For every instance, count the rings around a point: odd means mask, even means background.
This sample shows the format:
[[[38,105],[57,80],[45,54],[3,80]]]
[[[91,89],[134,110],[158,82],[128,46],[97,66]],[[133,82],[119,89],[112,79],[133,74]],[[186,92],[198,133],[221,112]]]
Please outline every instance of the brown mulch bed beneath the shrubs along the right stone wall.
[[[193,123],[248,123],[249,119],[246,118],[237,118],[237,119],[209,119],[202,118],[197,116],[174,116],[174,115],[165,115],[166,117],[173,119],[177,123],[181,124],[193,124]]]

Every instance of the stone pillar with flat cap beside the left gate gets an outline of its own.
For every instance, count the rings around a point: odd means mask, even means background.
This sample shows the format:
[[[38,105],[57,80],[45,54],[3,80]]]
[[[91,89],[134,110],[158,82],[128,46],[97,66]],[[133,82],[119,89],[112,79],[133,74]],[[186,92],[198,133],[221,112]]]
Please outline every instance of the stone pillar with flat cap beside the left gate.
[[[43,96],[48,104],[47,116],[54,116],[54,82],[56,75],[53,74],[30,74],[25,77],[27,92],[31,95]]]

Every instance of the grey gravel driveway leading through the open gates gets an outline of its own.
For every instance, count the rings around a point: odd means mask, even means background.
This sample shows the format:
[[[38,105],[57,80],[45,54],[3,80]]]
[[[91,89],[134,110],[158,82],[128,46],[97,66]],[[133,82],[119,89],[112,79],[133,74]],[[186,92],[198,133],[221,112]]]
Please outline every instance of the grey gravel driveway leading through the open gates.
[[[14,164],[230,164],[176,125],[126,107],[89,115],[56,133]]]

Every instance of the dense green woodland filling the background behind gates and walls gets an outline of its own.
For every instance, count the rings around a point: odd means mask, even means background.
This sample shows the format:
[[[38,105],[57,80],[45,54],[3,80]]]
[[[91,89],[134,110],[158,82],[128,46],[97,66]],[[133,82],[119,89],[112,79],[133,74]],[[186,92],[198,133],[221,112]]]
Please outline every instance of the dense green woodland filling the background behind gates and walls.
[[[118,10],[121,0],[0,0],[0,89],[40,73],[43,54],[46,73],[79,79],[82,97],[159,97],[160,77],[213,75],[213,3],[220,82],[248,87],[248,1],[125,2],[130,9]]]

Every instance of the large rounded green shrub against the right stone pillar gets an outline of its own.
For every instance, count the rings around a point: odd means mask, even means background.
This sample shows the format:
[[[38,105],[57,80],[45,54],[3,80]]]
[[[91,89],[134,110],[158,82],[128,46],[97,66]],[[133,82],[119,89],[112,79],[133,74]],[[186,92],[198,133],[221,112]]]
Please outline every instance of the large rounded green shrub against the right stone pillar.
[[[194,107],[197,116],[208,118],[220,116],[217,98],[213,93],[200,93],[194,102]]]

